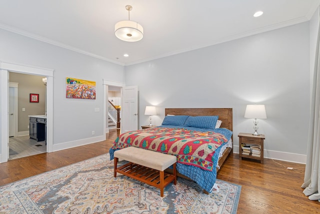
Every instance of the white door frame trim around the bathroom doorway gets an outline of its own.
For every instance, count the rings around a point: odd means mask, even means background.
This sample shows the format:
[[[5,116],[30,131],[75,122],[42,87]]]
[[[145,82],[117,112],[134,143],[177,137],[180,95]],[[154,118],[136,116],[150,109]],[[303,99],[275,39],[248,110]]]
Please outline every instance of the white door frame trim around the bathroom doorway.
[[[53,150],[53,69],[41,68],[32,65],[25,65],[15,62],[0,61],[0,84],[1,84],[1,130],[0,130],[0,162],[7,162],[9,154],[7,152],[7,146],[9,142],[9,120],[8,120],[8,73],[16,72],[23,74],[31,74],[47,77],[46,83],[46,152],[52,152]]]

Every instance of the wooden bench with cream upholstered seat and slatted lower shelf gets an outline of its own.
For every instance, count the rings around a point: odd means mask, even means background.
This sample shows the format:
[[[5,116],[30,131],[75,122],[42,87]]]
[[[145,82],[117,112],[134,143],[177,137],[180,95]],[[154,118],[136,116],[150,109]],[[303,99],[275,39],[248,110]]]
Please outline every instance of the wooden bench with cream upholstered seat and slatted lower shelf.
[[[129,161],[117,168],[118,159]],[[164,169],[173,165],[173,174],[165,173]],[[160,189],[163,197],[163,188],[170,182],[176,184],[176,157],[142,148],[129,146],[114,151],[114,177],[116,172],[144,182]]]

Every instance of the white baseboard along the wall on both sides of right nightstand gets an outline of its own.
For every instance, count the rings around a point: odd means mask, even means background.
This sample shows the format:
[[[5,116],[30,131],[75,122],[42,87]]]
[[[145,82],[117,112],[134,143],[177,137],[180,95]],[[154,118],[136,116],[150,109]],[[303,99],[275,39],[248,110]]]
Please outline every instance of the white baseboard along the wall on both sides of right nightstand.
[[[239,153],[239,146],[233,145],[233,152]],[[272,151],[272,150],[263,150],[264,158],[275,159],[275,160],[283,160],[292,163],[306,163],[306,155],[305,154],[295,154],[289,152],[281,152],[281,151]]]

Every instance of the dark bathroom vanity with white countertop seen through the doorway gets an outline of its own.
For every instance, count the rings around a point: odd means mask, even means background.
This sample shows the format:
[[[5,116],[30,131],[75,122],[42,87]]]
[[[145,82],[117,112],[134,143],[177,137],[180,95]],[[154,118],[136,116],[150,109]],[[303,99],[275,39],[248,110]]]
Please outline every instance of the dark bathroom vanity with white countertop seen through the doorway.
[[[29,136],[36,141],[46,140],[46,115],[29,115]]]

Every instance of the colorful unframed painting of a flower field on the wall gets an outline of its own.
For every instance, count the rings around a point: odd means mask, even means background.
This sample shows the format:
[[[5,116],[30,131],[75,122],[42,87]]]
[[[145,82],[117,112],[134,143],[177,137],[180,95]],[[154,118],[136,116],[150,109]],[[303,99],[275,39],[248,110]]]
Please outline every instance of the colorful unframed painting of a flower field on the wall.
[[[95,82],[65,78],[66,98],[95,100]]]

